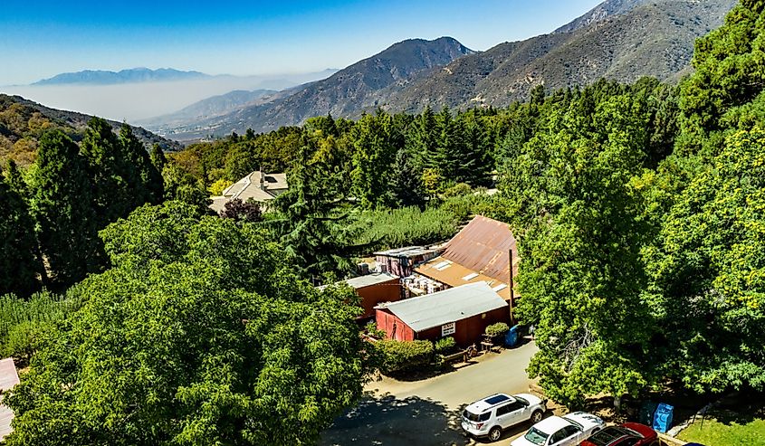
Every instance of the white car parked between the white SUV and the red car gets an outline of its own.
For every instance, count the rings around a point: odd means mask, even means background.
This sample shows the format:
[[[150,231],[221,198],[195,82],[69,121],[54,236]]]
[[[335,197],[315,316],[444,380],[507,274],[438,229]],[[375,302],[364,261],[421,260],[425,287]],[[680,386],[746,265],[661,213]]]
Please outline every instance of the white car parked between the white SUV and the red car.
[[[600,431],[606,423],[586,412],[551,416],[537,422],[529,432],[512,441],[511,446],[576,446]]]

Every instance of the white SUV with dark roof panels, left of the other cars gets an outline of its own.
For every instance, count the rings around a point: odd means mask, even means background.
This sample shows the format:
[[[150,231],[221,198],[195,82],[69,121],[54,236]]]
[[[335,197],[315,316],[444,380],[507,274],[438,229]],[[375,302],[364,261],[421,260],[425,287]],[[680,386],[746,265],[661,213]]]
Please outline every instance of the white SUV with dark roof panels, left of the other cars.
[[[545,403],[532,394],[494,394],[465,407],[462,426],[475,437],[497,441],[502,430],[519,422],[539,422],[547,410]]]

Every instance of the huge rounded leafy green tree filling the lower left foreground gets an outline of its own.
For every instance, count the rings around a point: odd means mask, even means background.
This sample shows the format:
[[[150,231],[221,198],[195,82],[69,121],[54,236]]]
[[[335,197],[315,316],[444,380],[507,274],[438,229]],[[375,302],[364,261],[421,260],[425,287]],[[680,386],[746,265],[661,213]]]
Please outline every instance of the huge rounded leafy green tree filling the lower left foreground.
[[[5,396],[8,445],[315,444],[356,403],[353,291],[298,280],[251,224],[194,214],[144,206],[106,230],[114,268]]]

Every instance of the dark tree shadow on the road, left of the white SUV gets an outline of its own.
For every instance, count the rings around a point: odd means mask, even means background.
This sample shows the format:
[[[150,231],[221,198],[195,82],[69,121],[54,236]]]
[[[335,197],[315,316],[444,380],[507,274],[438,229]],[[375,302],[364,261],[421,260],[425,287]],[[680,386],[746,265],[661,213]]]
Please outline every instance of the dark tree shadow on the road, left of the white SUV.
[[[457,413],[416,396],[365,397],[339,416],[321,436],[321,446],[464,446],[469,444]]]

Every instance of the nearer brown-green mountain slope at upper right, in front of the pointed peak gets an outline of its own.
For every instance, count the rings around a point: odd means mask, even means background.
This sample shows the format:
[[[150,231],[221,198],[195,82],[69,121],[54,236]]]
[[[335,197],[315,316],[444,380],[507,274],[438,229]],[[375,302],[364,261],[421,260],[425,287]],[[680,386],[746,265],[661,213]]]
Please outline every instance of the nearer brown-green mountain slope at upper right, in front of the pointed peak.
[[[466,56],[405,90],[385,91],[381,100],[387,109],[407,111],[428,104],[504,107],[525,100],[537,85],[557,90],[600,78],[632,82],[642,76],[676,81],[690,66],[695,39],[722,24],[736,1],[633,3],[621,2],[632,7],[598,20],[591,20],[598,14],[590,15],[579,22],[589,24],[573,24],[576,29],[571,32],[502,43]]]

